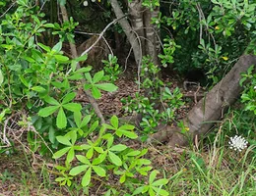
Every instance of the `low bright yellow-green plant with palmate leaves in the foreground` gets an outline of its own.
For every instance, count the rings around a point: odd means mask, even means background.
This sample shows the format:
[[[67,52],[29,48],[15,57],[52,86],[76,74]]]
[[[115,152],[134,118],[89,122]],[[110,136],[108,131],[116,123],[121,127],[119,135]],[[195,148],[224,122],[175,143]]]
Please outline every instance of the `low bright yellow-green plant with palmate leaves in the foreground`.
[[[134,178],[136,173],[147,175],[152,170],[152,167],[150,166],[150,160],[142,158],[147,153],[146,149],[139,151],[133,150],[124,144],[114,144],[118,137],[137,138],[138,136],[132,131],[133,129],[134,126],[129,124],[119,126],[118,118],[113,116],[110,119],[110,124],[101,126],[96,140],[87,139],[86,144],[76,144],[78,143],[78,137],[74,129],[64,136],[57,136],[57,140],[67,147],[54,153],[53,158],[58,160],[65,154],[67,154],[67,157],[66,166],[57,167],[58,170],[62,171],[61,174],[63,176],[56,178],[56,180],[60,181],[61,184],[67,183],[70,186],[72,184],[70,181],[73,180],[73,177],[83,173],[81,184],[84,187],[88,187],[92,177],[95,175],[108,178],[111,173],[114,173],[120,176],[120,183],[127,184],[131,183],[129,179]],[[77,154],[79,152],[82,154]],[[77,158],[78,163],[74,162],[74,158]],[[155,175],[155,172],[152,175]],[[161,182],[165,184],[166,179],[153,182],[155,177],[150,177],[152,185],[149,186],[147,191],[158,190],[163,193],[164,191],[160,190],[158,186]]]

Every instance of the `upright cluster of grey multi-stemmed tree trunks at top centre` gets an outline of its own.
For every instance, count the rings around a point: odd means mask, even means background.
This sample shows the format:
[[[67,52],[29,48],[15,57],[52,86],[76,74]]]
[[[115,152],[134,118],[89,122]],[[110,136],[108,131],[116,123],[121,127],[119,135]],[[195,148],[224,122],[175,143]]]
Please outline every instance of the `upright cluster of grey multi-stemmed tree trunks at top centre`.
[[[110,0],[111,7],[117,18],[124,16],[117,0]],[[149,55],[153,63],[159,65],[160,40],[159,30],[156,25],[151,24],[153,17],[158,17],[160,8],[154,11],[142,6],[142,0],[128,1],[129,17],[131,25],[127,19],[119,21],[133,49],[135,61],[138,66],[141,64],[142,56]]]

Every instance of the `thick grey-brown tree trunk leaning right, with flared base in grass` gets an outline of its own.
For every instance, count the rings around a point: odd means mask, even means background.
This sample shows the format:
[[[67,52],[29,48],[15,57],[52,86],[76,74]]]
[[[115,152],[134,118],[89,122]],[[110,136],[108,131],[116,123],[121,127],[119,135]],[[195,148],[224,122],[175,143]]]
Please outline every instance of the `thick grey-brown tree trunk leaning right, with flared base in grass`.
[[[189,137],[180,133],[177,127],[166,125],[153,134],[149,141],[168,142],[170,146],[186,145],[188,139],[205,135],[218,121],[224,110],[233,104],[240,96],[242,87],[239,85],[240,73],[245,73],[251,65],[256,65],[256,56],[244,55],[216,86],[201,99],[188,113],[183,123],[189,127]]]

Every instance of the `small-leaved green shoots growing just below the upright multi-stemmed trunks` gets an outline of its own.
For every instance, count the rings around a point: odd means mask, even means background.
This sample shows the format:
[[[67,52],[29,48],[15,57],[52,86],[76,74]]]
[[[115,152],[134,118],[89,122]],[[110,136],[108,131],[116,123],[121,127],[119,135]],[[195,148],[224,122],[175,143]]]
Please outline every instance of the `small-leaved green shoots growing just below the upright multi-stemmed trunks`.
[[[121,100],[125,112],[143,115],[140,123],[143,129],[143,141],[148,138],[149,133],[156,131],[159,122],[171,123],[174,120],[177,108],[184,104],[181,100],[182,93],[180,89],[176,87],[171,92],[166,86],[171,83],[164,84],[159,77],[159,73],[160,68],[154,65],[149,57],[144,57],[141,71],[141,88],[146,91],[147,96],[136,92],[135,98],[128,96],[127,99]]]

